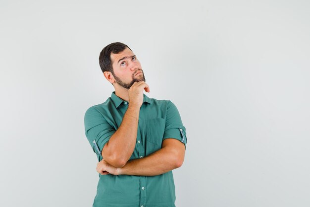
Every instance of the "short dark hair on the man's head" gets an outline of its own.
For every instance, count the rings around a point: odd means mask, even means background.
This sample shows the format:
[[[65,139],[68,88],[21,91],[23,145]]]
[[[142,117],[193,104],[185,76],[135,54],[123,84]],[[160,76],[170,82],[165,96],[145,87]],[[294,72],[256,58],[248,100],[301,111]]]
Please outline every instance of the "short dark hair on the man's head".
[[[111,61],[111,53],[118,54],[126,49],[126,47],[131,50],[127,45],[121,42],[113,42],[103,48],[99,56],[99,65],[101,70],[109,71],[114,75],[114,71],[112,68],[112,61]],[[131,50],[132,51],[132,50]]]

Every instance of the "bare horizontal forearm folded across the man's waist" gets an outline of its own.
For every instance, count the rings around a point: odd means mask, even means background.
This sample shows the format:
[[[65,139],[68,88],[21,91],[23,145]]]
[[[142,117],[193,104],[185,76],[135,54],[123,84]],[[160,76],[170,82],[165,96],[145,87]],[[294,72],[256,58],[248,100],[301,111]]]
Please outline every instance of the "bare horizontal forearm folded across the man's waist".
[[[129,160],[122,168],[120,175],[154,176],[178,168],[178,160],[173,150],[164,147],[144,158]]]

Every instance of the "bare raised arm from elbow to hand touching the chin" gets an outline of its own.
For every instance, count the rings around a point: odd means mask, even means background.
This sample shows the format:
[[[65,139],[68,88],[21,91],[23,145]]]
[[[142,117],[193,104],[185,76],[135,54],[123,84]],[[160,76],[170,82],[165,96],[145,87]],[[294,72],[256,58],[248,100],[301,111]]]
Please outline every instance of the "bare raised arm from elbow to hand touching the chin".
[[[130,87],[129,105],[122,123],[103,147],[103,159],[114,167],[125,166],[135,149],[143,90],[150,92],[148,84],[144,81],[135,82]]]

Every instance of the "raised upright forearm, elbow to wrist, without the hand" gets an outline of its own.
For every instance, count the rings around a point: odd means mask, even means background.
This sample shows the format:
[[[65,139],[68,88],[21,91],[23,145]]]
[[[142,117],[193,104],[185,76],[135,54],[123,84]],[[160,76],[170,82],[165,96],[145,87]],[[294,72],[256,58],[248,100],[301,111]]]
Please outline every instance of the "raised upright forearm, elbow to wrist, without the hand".
[[[118,130],[105,144],[103,158],[115,167],[122,167],[132,155],[137,139],[140,107],[129,106]]]

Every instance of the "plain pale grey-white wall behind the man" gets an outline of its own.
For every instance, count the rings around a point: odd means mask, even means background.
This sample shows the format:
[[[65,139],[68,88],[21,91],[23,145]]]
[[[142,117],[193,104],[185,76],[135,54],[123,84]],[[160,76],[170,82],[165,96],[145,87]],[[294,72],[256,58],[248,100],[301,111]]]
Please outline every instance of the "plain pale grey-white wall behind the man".
[[[307,0],[0,0],[0,206],[91,207],[85,111],[123,42],[187,129],[177,207],[310,206]]]

